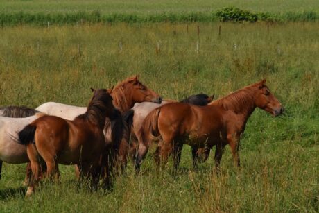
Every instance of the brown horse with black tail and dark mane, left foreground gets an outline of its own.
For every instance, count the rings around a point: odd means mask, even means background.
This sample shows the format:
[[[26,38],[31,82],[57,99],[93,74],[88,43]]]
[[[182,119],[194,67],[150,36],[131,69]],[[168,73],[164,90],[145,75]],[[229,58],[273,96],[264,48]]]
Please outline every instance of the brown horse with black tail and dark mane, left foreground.
[[[46,177],[58,178],[60,164],[78,164],[83,176],[91,176],[96,187],[101,172],[99,161],[105,148],[105,118],[112,118],[115,108],[112,96],[105,89],[93,90],[87,112],[73,121],[55,116],[36,119],[19,132],[21,144],[27,146],[33,180],[26,196],[30,196],[42,177],[41,157],[46,163]]]

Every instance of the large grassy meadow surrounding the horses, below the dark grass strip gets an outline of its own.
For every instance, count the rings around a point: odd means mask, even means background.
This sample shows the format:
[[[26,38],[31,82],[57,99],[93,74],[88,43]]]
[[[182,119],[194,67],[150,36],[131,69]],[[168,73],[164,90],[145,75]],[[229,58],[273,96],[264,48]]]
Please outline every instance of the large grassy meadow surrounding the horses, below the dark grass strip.
[[[318,24],[270,24],[269,32],[263,23],[221,24],[218,35],[219,25],[0,28],[0,105],[86,105],[89,87],[141,74],[167,99],[198,92],[218,98],[266,77],[286,108],[276,118],[259,109],[252,114],[241,170],[227,147],[221,176],[214,157],[194,171],[185,146],[175,175],[171,162],[156,174],[150,154],[140,176],[130,164],[112,191],[90,192],[65,166],[60,184],[44,183],[26,199],[25,165],[4,164],[0,212],[318,212]]]

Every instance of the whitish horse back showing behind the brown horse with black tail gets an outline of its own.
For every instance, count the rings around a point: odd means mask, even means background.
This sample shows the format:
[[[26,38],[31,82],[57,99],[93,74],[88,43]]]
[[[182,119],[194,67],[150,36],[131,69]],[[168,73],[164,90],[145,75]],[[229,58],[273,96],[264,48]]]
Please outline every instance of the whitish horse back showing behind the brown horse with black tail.
[[[78,107],[63,103],[47,102],[35,108],[35,110],[45,114],[62,117],[62,119],[74,120],[78,115],[87,112],[86,107]]]

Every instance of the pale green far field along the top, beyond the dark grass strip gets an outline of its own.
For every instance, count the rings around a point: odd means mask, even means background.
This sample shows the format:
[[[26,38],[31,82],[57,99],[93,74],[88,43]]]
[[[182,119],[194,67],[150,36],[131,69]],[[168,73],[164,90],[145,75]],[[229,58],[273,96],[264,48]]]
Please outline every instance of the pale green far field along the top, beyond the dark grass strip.
[[[116,1],[116,0],[66,0],[66,1],[45,1],[45,0],[0,0],[0,12],[76,12],[95,11],[103,13],[156,13],[156,12],[211,12],[227,6],[236,6],[245,10],[255,12],[319,12],[319,3],[316,0],[228,0],[228,1],[207,1],[207,0],[150,0],[150,1]]]

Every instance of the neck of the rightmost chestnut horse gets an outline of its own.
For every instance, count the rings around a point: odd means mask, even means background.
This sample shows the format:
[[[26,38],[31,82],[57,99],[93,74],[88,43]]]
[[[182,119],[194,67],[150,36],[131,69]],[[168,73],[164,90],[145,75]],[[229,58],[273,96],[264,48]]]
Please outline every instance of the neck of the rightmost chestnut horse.
[[[213,101],[210,105],[222,106],[225,110],[240,114],[247,121],[256,108],[255,92],[254,90],[242,89],[222,99]]]

